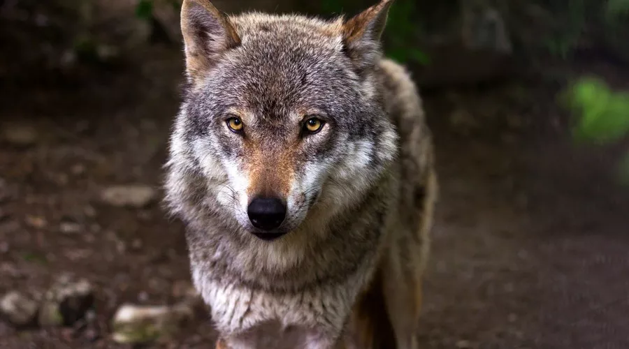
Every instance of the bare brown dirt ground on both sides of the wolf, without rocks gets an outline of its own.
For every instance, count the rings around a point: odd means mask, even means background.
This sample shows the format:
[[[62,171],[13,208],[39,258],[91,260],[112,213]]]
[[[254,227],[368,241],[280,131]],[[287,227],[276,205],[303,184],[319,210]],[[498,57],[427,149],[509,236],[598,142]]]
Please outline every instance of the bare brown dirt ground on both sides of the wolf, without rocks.
[[[127,209],[99,199],[117,184],[161,190],[181,57],[146,57],[89,83],[0,96],[3,125],[36,132],[27,147],[0,147],[0,293],[72,272],[96,285],[97,314],[80,329],[0,322],[0,348],[131,348],[110,339],[115,309],[171,303],[189,280],[182,225],[159,201]],[[629,195],[612,181],[619,152],[570,143],[557,87],[536,79],[424,94],[441,193],[422,348],[629,348]],[[66,222],[80,230],[64,232]],[[146,348],[212,348],[213,336],[200,314],[177,339]]]

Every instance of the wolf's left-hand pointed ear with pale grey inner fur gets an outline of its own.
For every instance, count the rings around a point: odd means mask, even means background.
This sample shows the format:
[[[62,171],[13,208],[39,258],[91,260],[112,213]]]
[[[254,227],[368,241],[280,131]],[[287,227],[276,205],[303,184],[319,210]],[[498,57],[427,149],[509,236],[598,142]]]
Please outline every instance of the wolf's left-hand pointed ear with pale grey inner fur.
[[[191,82],[199,82],[224,52],[240,45],[229,18],[208,0],[183,1],[181,32]]]

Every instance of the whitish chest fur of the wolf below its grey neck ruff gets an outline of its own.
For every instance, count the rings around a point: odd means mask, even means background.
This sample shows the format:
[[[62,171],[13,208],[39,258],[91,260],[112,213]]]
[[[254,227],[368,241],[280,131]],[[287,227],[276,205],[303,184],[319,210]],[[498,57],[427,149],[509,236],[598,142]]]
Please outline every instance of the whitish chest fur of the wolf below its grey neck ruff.
[[[225,284],[193,270],[212,322],[234,349],[330,348],[368,281],[367,266],[335,285],[295,293]]]

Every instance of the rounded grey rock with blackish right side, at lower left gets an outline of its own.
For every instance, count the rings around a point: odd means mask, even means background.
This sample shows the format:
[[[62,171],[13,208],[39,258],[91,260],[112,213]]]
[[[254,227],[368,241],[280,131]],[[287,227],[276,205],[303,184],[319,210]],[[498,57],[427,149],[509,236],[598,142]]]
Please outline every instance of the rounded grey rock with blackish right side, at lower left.
[[[73,325],[85,317],[94,303],[94,289],[85,279],[62,276],[45,293],[39,323],[42,326]]]

